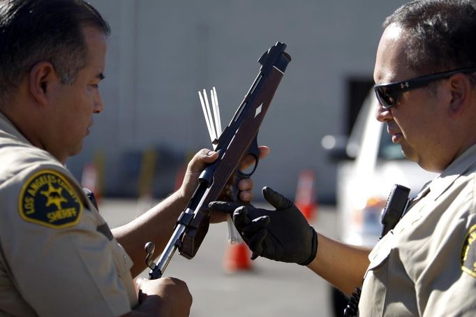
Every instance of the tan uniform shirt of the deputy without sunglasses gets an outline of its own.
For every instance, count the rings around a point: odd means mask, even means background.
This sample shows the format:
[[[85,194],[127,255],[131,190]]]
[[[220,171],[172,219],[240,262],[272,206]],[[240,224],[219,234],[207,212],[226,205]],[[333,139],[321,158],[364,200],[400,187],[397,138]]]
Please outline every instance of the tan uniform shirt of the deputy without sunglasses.
[[[0,113],[0,316],[120,316],[131,258],[70,172]]]

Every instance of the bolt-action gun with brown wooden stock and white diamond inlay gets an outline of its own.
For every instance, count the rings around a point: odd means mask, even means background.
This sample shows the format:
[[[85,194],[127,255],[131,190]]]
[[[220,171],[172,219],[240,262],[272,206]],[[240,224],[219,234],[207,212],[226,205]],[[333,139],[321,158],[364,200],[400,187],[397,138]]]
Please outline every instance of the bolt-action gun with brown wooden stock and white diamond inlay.
[[[180,214],[174,233],[157,263],[154,263],[152,258],[154,244],[148,242],[145,245],[147,252],[145,261],[151,268],[149,279],[158,279],[162,276],[176,249],[179,249],[179,253],[185,258],[191,259],[195,256],[208,231],[209,202],[216,200],[223,189],[229,188],[229,184],[236,185],[239,179],[250,177],[255,172],[259,160],[258,130],[291,60],[290,55],[284,52],[285,48],[284,43],[278,42],[258,60],[262,65],[258,76],[230,124],[223,130],[218,140],[213,142],[218,158],[207,165],[198,177],[197,189],[184,212]],[[255,159],[255,165],[249,173],[239,169],[242,158],[247,154],[251,154]],[[231,195],[232,199],[238,199],[237,190]]]

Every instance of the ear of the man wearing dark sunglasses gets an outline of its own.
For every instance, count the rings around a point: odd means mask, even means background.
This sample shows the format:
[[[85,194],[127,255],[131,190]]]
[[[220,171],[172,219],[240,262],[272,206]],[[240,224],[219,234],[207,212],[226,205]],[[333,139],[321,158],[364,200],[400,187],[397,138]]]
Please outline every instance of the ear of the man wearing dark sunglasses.
[[[449,78],[449,85],[452,93],[449,112],[452,116],[462,115],[470,101],[472,84],[467,75],[458,73]]]

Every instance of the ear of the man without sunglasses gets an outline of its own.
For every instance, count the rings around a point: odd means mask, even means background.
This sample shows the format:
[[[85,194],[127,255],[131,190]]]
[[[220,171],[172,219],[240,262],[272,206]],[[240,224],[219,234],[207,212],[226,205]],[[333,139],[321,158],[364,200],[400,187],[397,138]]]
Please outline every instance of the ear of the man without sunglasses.
[[[40,61],[31,68],[29,73],[29,90],[31,96],[40,104],[48,103],[48,93],[57,80],[54,66],[49,61]]]

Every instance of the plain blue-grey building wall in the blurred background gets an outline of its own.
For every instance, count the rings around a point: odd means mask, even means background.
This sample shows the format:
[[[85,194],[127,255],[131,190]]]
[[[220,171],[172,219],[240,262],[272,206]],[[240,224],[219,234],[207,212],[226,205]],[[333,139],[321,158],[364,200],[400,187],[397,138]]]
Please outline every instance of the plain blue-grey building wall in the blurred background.
[[[124,164],[124,153],[160,148],[169,159],[158,175],[170,192],[184,156],[210,147],[197,91],[216,87],[228,124],[258,58],[279,40],[292,61],[258,135],[272,154],[255,172],[256,193],[269,185],[292,198],[299,172],[311,169],[318,197],[330,201],[336,170],[320,139],[345,132],[348,78],[372,77],[382,21],[403,2],[93,0],[112,27],[101,83],[106,107],[68,167],[80,177],[101,152],[106,193],[132,192],[137,167]]]

